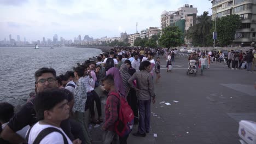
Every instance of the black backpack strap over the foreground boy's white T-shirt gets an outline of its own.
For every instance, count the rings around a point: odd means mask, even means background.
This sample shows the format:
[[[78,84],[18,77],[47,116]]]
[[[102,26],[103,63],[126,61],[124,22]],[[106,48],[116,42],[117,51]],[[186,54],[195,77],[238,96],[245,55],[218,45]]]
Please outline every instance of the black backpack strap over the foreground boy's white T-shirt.
[[[45,136],[47,136],[47,135],[49,135],[50,133],[53,133],[53,132],[60,133],[63,137],[64,144],[68,144],[67,138],[62,133],[62,131],[60,131],[59,129],[53,128],[53,127],[46,128],[46,129],[40,131],[40,133],[37,135],[37,138],[34,140],[33,144],[39,144],[40,141],[43,140]],[[28,133],[30,133],[30,131],[28,131]]]

